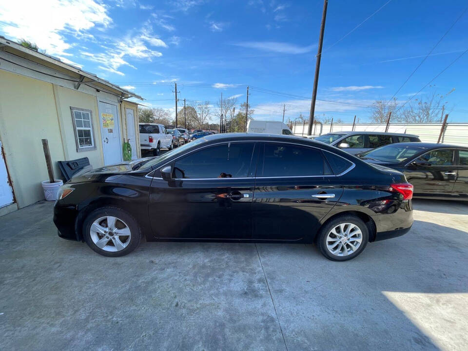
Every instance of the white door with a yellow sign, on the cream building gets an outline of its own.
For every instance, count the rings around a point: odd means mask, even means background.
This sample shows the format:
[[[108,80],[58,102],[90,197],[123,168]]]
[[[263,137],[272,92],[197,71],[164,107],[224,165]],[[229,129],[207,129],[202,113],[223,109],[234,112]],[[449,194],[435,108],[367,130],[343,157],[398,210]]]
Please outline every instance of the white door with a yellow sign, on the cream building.
[[[99,101],[99,125],[101,127],[104,165],[122,161],[122,145],[118,125],[117,105]]]

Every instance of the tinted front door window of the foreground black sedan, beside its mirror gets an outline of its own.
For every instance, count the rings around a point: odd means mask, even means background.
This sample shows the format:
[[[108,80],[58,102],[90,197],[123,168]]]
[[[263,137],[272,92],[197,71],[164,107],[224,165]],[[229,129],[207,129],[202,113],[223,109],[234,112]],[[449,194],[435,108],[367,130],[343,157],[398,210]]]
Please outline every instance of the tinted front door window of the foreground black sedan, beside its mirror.
[[[176,178],[235,178],[249,173],[254,143],[207,147],[176,160]]]

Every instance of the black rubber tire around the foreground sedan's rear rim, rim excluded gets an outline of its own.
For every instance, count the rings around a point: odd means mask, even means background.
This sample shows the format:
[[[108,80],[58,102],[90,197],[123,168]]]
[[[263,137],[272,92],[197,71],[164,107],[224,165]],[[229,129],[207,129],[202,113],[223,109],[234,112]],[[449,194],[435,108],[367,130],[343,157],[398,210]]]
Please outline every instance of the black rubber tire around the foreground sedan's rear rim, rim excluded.
[[[336,226],[339,226],[342,223],[354,224],[361,230],[361,233],[362,233],[362,241],[359,247],[351,254],[343,255],[343,256],[332,254],[327,248],[328,234],[331,232],[333,228],[335,228]],[[356,257],[358,254],[362,253],[363,250],[366,248],[366,245],[369,242],[369,229],[366,223],[364,223],[362,219],[359,217],[356,217],[354,215],[340,215],[340,216],[333,218],[331,221],[325,223],[320,228],[317,234],[316,242],[317,242],[317,246],[320,252],[328,259],[332,261],[348,261]],[[343,249],[343,252],[344,252],[344,249]]]

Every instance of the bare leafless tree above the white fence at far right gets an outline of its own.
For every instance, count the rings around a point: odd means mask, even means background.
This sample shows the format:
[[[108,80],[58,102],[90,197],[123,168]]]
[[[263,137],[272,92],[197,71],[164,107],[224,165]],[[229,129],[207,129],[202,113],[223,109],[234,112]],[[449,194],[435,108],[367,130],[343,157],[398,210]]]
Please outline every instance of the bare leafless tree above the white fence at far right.
[[[443,105],[447,104],[446,98],[454,90],[450,90],[447,94],[438,94],[436,90],[432,90],[430,94],[414,99],[414,103],[409,103],[409,106],[403,111],[401,120],[407,123],[439,121],[441,117],[440,110]]]

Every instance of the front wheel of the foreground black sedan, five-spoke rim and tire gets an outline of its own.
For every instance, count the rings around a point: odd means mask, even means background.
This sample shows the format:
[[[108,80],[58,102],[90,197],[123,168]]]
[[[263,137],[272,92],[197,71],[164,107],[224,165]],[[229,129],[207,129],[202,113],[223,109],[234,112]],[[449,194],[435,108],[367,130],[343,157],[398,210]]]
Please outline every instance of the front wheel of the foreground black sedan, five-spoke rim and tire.
[[[91,249],[110,257],[130,254],[141,239],[137,221],[116,207],[104,207],[89,214],[84,221],[83,236]]]

